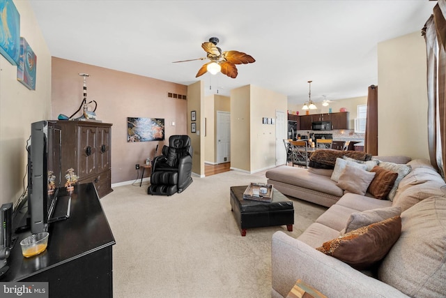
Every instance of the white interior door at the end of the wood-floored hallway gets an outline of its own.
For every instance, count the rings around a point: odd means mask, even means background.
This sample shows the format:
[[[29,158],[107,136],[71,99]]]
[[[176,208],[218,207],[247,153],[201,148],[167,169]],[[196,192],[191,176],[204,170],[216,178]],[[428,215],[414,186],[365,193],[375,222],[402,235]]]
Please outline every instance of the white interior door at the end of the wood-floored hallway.
[[[231,113],[217,111],[217,163],[231,161]]]

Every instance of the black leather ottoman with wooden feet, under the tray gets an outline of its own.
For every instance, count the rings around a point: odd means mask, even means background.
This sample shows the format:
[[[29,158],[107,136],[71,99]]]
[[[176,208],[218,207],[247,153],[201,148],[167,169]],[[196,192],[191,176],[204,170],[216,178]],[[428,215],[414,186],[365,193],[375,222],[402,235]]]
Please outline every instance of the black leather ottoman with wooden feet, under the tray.
[[[274,188],[271,202],[244,200],[243,193],[247,187],[231,186],[231,211],[240,226],[242,236],[246,235],[249,228],[272,225],[286,225],[290,232],[293,231],[293,202]]]

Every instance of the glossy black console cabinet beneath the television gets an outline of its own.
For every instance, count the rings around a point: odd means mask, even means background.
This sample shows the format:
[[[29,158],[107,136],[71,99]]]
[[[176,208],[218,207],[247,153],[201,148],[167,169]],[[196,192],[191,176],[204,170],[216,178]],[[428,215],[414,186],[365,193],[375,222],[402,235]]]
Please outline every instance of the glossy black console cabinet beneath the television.
[[[26,210],[14,218],[14,228],[25,220]],[[47,250],[24,258],[20,241],[30,234],[13,235],[10,268],[0,281],[48,282],[50,298],[113,297],[115,240],[92,183],[75,186],[70,218],[50,224]]]

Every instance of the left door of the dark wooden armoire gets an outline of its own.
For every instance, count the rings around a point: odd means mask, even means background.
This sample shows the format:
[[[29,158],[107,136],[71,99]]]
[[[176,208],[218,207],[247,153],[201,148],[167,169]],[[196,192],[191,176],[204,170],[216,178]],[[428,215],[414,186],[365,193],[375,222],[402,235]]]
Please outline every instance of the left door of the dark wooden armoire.
[[[96,128],[81,126],[79,129],[79,172],[81,177],[96,172]]]

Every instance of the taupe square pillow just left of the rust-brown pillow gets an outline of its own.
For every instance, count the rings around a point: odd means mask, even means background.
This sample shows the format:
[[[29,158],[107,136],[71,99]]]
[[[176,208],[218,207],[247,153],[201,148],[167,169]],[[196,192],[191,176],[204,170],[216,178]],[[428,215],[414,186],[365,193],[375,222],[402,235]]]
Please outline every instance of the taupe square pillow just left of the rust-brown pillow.
[[[337,186],[351,193],[365,195],[375,174],[374,172],[367,172],[366,170],[346,165],[346,168],[339,177]]]

